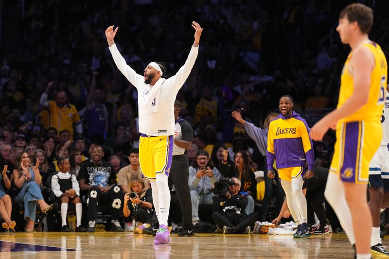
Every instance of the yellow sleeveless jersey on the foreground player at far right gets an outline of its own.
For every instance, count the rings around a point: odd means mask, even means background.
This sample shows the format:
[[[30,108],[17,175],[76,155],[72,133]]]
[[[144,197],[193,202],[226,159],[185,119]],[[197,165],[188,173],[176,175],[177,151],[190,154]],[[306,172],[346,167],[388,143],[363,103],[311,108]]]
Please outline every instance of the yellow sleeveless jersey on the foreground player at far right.
[[[343,118],[339,122],[347,121],[380,121],[383,105],[385,103],[385,93],[388,78],[387,61],[381,47],[373,42],[362,43],[362,48],[368,48],[374,56],[375,67],[371,72],[371,84],[369,90],[368,103],[352,115]],[[337,108],[342,106],[354,92],[353,71],[350,66],[350,60],[353,52],[350,52],[341,75],[339,101]]]

